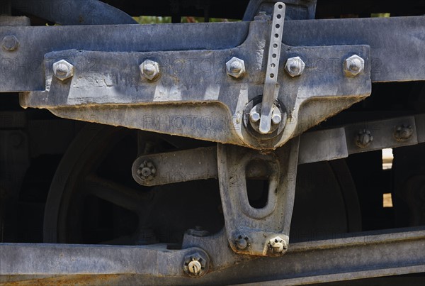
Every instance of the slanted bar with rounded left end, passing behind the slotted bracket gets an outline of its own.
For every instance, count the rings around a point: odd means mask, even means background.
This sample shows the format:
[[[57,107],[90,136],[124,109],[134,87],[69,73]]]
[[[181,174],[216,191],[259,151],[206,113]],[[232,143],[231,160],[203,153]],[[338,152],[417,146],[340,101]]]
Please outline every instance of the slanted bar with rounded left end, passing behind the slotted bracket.
[[[412,128],[412,134],[397,140],[399,126]],[[365,147],[356,145],[359,131],[370,131],[373,141]],[[331,128],[303,133],[300,136],[298,165],[347,158],[350,154],[370,152],[384,148],[398,148],[425,142],[425,114],[403,116],[395,119],[354,123],[341,128]],[[189,158],[189,159],[188,159]],[[188,164],[183,164],[188,160]],[[152,163],[157,173],[152,180],[142,180],[137,175],[143,162]],[[169,153],[142,155],[132,165],[132,175],[140,185],[154,186],[217,178],[217,148],[196,148]],[[268,170],[251,166],[246,178],[265,178]]]

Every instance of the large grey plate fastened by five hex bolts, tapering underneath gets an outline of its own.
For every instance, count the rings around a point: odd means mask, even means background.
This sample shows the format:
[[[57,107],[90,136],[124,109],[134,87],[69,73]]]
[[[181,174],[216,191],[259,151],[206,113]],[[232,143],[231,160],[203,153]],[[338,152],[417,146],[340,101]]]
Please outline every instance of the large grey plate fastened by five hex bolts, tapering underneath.
[[[370,94],[369,65],[357,77],[346,77],[342,64],[337,70],[322,72],[312,67],[297,78],[280,69],[276,77],[285,88],[280,88],[276,97],[288,110],[286,121],[279,123],[284,128],[267,136],[253,136],[242,117],[246,106],[263,93],[263,57],[269,28],[267,21],[251,22],[244,43],[225,50],[48,53],[44,62],[47,90],[21,94],[21,105],[46,108],[69,119],[273,149]],[[283,45],[281,57],[283,61],[293,55],[332,57],[342,63],[351,53],[361,55],[366,62],[370,60],[367,45]],[[237,79],[230,78],[225,70],[225,62],[234,56],[244,60],[246,67],[246,75]],[[51,65],[64,58],[74,65],[74,77],[62,82],[52,77]],[[201,62],[193,64],[191,59],[200,58]],[[146,59],[164,66],[154,82],[140,79],[139,65]]]

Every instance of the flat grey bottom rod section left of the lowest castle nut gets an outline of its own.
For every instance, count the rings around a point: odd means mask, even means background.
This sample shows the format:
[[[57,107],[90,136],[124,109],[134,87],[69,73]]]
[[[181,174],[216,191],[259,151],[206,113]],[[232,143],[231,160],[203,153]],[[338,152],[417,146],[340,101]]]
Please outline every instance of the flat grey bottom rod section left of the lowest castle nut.
[[[167,246],[0,244],[0,275],[141,274],[184,276],[183,261],[198,248],[169,251]]]

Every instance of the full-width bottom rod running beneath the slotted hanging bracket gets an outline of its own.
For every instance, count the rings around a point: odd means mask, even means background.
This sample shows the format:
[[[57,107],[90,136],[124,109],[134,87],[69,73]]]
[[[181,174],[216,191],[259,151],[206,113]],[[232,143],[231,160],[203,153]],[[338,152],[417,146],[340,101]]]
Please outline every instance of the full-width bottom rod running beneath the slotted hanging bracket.
[[[2,267],[0,268],[0,281],[3,283],[6,281],[16,281],[16,278],[11,275],[16,275],[17,273],[21,275],[34,275],[38,272],[53,273],[59,271],[64,273],[67,270],[80,269],[80,274],[87,273],[90,270],[92,271],[92,275],[72,275],[72,273],[67,273],[69,276],[40,277],[39,281],[81,282],[82,285],[87,280],[94,285],[107,285],[108,283],[125,283],[128,285],[210,285],[211,283],[221,284],[224,282],[237,284],[259,281],[261,283],[267,283],[269,281],[268,283],[272,285],[273,283],[280,285],[302,285],[305,283],[425,271],[425,254],[423,251],[425,230],[423,228],[357,234],[357,236],[344,236],[326,241],[293,243],[290,244],[288,253],[280,258],[259,258],[244,263],[243,260],[248,259],[246,255],[236,255],[229,248],[223,247],[222,238],[225,238],[225,236],[219,235],[208,238],[186,237],[186,243],[183,246],[205,244],[206,252],[211,253],[210,251],[214,251],[215,256],[218,258],[212,264],[213,269],[210,273],[195,280],[193,278],[170,277],[166,273],[157,273],[150,276],[131,274],[142,273],[143,270],[141,269],[144,269],[146,265],[152,265],[152,261],[147,259],[151,257],[150,254],[146,257],[145,255],[137,255],[137,253],[162,252],[158,249],[155,250],[155,247],[149,250],[148,248],[128,248],[125,246],[39,245],[36,247],[37,245],[16,244],[12,246],[1,244]],[[208,245],[210,248],[208,248]],[[42,248],[45,251],[40,252]],[[94,250],[96,253],[97,250],[103,250],[98,252],[103,257],[111,257],[111,253],[115,253],[115,251],[126,252],[131,250],[133,254],[128,253],[128,255],[120,256],[120,258],[115,257],[113,260],[120,260],[118,265],[115,265],[115,263],[100,264],[106,266],[106,268],[101,268],[96,262],[93,265],[81,265],[79,263],[79,256],[81,255],[81,258],[84,258],[88,253],[77,251],[79,249]],[[26,255],[21,255],[23,250],[26,251]],[[172,253],[173,251],[169,252]],[[183,253],[184,251],[180,252]],[[38,255],[30,255],[37,253]],[[53,253],[55,254],[51,256]],[[62,253],[62,257],[60,253]],[[72,260],[72,257],[77,259]],[[223,260],[225,257],[227,257],[227,265],[222,264],[225,263],[225,260]],[[18,263],[19,266],[11,269],[11,264],[8,264],[11,263],[11,260],[14,263]],[[126,268],[123,262],[128,260],[134,260],[132,265],[139,265],[138,268]],[[60,263],[52,263],[54,261]],[[160,260],[157,260],[157,263],[159,262]],[[181,267],[181,263],[182,261],[178,263],[179,267]],[[235,263],[237,264],[235,265]],[[64,265],[67,265],[67,267],[64,268]],[[264,265],[273,265],[273,267],[264,267]],[[26,267],[26,270],[24,270],[23,266]],[[222,269],[223,266],[227,269]],[[117,268],[121,268],[125,272],[118,275],[106,274],[108,271],[113,273]],[[113,271],[113,269],[115,270]],[[174,269],[173,267],[164,269],[171,272],[174,271],[172,270]],[[216,271],[218,269],[222,270]],[[101,273],[106,275],[95,275]],[[183,270],[181,270],[181,274],[184,275]],[[25,278],[25,276],[21,278],[23,280],[22,285],[28,283],[26,279],[28,278]],[[36,276],[30,277],[30,279],[32,279],[32,282],[37,282]],[[16,285],[21,285],[18,281],[16,283]]]

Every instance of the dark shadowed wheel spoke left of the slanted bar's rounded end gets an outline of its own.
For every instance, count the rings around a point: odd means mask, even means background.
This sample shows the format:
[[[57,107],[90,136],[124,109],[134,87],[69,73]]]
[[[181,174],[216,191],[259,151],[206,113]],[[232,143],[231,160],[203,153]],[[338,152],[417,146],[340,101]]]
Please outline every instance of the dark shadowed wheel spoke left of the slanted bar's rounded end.
[[[125,187],[117,182],[112,182],[96,175],[87,176],[85,186],[89,194],[130,211],[137,212],[142,207],[143,201],[150,197],[147,193]]]

